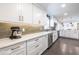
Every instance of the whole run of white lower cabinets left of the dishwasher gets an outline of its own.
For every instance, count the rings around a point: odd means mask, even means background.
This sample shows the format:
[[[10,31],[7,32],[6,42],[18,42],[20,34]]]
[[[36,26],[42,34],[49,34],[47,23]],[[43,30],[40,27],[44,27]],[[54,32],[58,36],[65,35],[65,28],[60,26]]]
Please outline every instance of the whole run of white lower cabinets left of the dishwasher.
[[[48,48],[48,35],[1,48],[0,55],[40,55]]]

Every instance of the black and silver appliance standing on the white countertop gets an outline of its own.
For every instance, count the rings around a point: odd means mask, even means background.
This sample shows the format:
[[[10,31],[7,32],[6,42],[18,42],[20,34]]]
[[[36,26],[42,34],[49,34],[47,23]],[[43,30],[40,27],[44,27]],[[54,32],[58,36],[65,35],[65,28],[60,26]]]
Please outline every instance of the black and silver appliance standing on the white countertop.
[[[20,27],[11,27],[11,36],[10,39],[19,39],[21,38],[22,35],[22,31],[20,29]]]

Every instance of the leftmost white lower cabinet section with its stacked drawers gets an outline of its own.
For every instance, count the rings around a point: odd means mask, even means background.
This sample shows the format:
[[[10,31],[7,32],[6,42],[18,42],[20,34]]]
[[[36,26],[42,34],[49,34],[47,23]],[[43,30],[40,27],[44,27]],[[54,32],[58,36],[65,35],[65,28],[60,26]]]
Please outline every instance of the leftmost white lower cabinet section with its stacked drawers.
[[[1,48],[0,55],[26,55],[26,42],[17,43],[15,45]]]

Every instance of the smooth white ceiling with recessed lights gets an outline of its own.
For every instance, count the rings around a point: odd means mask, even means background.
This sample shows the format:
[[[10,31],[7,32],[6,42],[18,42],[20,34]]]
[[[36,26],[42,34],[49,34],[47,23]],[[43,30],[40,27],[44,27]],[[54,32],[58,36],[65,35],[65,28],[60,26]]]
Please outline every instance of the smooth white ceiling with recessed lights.
[[[79,16],[79,3],[65,3],[66,7],[62,8],[63,3],[39,3],[45,11],[51,16],[72,17]],[[68,15],[64,15],[68,13]]]

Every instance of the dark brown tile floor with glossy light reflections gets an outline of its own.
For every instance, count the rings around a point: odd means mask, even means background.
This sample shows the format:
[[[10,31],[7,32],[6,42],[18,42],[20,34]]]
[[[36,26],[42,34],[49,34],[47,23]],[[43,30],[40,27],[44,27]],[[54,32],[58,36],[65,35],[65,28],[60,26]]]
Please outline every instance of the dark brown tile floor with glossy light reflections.
[[[79,55],[79,40],[59,38],[42,55]]]

